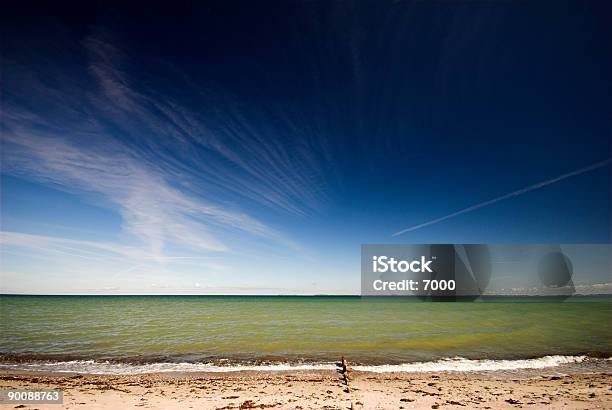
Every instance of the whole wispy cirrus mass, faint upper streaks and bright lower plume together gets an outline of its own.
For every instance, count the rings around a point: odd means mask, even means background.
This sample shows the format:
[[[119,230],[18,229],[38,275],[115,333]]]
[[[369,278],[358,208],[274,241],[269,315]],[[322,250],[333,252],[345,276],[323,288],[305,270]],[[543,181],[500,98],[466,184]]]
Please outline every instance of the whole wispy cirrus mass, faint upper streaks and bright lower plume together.
[[[104,36],[80,46],[87,58],[78,82],[62,70],[7,64],[14,83],[28,87],[8,93],[2,172],[95,198],[159,260],[169,245],[227,251],[224,234],[232,231],[297,247],[241,209],[304,215],[324,201],[313,141],[289,116],[266,128],[231,97],[223,109],[210,108],[219,95],[202,96],[202,112],[194,112],[172,93],[142,87],[146,74],[134,76],[128,54]],[[186,86],[189,79],[174,73],[170,83]],[[296,143],[276,144],[279,129],[295,132]]]

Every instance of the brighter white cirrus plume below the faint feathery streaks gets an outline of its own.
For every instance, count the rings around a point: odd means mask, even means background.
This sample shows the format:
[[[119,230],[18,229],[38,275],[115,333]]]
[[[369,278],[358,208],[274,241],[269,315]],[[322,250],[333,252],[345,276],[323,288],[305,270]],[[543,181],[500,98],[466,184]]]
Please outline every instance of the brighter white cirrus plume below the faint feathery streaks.
[[[168,242],[192,250],[226,251],[222,240],[211,233],[212,227],[284,240],[246,214],[180,192],[163,174],[119,146],[79,148],[58,137],[35,136],[19,129],[7,133],[3,141],[10,153],[5,159],[6,172],[97,195],[101,203],[120,213],[125,232],[158,258],[163,258]]]

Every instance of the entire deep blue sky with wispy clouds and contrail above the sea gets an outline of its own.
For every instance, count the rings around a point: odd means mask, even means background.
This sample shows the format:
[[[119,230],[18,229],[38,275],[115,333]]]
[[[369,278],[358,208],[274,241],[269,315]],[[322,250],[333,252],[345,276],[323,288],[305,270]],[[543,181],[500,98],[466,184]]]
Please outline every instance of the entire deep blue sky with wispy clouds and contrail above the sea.
[[[2,293],[356,294],[365,243],[612,240],[609,2],[130,3],[0,17]]]

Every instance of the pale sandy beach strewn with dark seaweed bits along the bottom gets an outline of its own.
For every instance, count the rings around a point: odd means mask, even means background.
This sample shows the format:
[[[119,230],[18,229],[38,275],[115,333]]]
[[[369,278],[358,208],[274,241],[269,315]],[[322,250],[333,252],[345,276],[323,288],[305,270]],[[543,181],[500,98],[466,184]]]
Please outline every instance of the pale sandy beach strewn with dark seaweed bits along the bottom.
[[[15,373],[2,375],[0,386],[61,389],[66,409],[612,408],[612,373],[517,379],[493,373],[352,372],[349,389],[332,371],[129,376]]]

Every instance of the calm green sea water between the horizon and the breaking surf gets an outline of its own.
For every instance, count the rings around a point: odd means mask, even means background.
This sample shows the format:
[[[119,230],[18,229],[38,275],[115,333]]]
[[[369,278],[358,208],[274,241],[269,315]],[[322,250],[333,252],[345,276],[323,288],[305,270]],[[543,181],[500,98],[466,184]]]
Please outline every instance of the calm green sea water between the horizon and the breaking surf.
[[[612,300],[0,296],[5,357],[405,363],[612,353]]]

